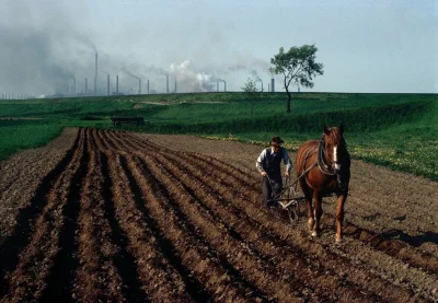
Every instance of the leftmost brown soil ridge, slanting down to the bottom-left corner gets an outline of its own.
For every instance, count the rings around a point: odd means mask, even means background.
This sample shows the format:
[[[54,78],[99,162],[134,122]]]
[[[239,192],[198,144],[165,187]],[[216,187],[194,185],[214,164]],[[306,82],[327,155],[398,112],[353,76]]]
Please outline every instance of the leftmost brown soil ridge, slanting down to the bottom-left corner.
[[[48,189],[46,197],[41,197],[47,200],[46,206],[35,220],[32,232],[28,232],[31,240],[20,254],[16,267],[9,279],[9,293],[5,298],[8,302],[37,300],[47,285],[47,277],[51,272],[54,259],[59,250],[58,242],[64,224],[62,209],[68,202],[69,195],[68,184],[72,174],[78,171],[83,144],[84,131],[81,130],[71,161],[53,188]]]

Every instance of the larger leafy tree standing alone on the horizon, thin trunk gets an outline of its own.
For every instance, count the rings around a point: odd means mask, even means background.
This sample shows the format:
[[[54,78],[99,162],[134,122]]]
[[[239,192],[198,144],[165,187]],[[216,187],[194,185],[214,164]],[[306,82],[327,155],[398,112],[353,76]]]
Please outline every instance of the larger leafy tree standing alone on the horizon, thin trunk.
[[[288,94],[287,113],[290,113],[290,101],[292,100],[289,92],[290,83],[293,81],[297,85],[313,88],[313,78],[324,73],[324,66],[315,62],[316,50],[314,45],[293,46],[287,53],[280,47],[279,53],[270,58],[274,67],[269,71],[285,77],[285,89]]]

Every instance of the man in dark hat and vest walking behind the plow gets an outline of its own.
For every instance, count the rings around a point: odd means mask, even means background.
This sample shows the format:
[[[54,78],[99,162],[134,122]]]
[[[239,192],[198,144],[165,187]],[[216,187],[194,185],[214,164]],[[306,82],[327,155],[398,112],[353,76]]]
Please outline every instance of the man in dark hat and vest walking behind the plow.
[[[257,158],[255,166],[263,176],[263,200],[266,208],[276,207],[276,201],[269,201],[281,191],[281,160],[285,163],[285,176],[288,177],[291,168],[291,162],[280,137],[274,137],[270,140],[270,148],[264,149]]]

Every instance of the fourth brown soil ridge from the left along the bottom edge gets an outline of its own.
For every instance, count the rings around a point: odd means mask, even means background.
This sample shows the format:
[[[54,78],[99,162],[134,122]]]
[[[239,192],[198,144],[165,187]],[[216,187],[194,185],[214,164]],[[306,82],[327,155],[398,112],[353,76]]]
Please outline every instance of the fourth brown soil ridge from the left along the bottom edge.
[[[175,200],[158,183],[151,171],[153,168],[149,168],[150,165],[151,163],[137,158],[137,164],[129,168],[136,182],[141,185],[140,189],[147,199],[146,207],[150,206],[149,211],[154,214],[160,230],[172,243],[178,244],[174,248],[183,257],[182,261],[187,264],[188,268],[193,268],[192,270],[201,277],[200,281],[206,283],[203,288],[208,290],[207,299],[211,298],[208,301],[241,302],[244,298],[250,301],[251,298],[266,301],[261,290],[243,280],[227,258],[218,255],[209,246],[199,235],[198,228],[184,220],[186,218],[175,206]],[[184,191],[178,195],[182,199],[186,196]],[[241,288],[235,288],[237,284],[241,284]]]

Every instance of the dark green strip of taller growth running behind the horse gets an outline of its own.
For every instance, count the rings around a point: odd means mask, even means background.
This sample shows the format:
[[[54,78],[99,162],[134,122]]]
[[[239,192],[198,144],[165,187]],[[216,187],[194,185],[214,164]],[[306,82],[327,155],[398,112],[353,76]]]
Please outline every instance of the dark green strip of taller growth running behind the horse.
[[[216,119],[197,119],[194,115],[189,120],[147,121],[142,129],[166,133],[204,135],[250,131],[314,132],[324,124],[334,126],[343,123],[349,131],[376,131],[417,120],[433,108],[434,103],[429,101],[307,114],[270,114],[253,118],[230,117],[226,113],[219,114],[220,110],[216,110]]]

